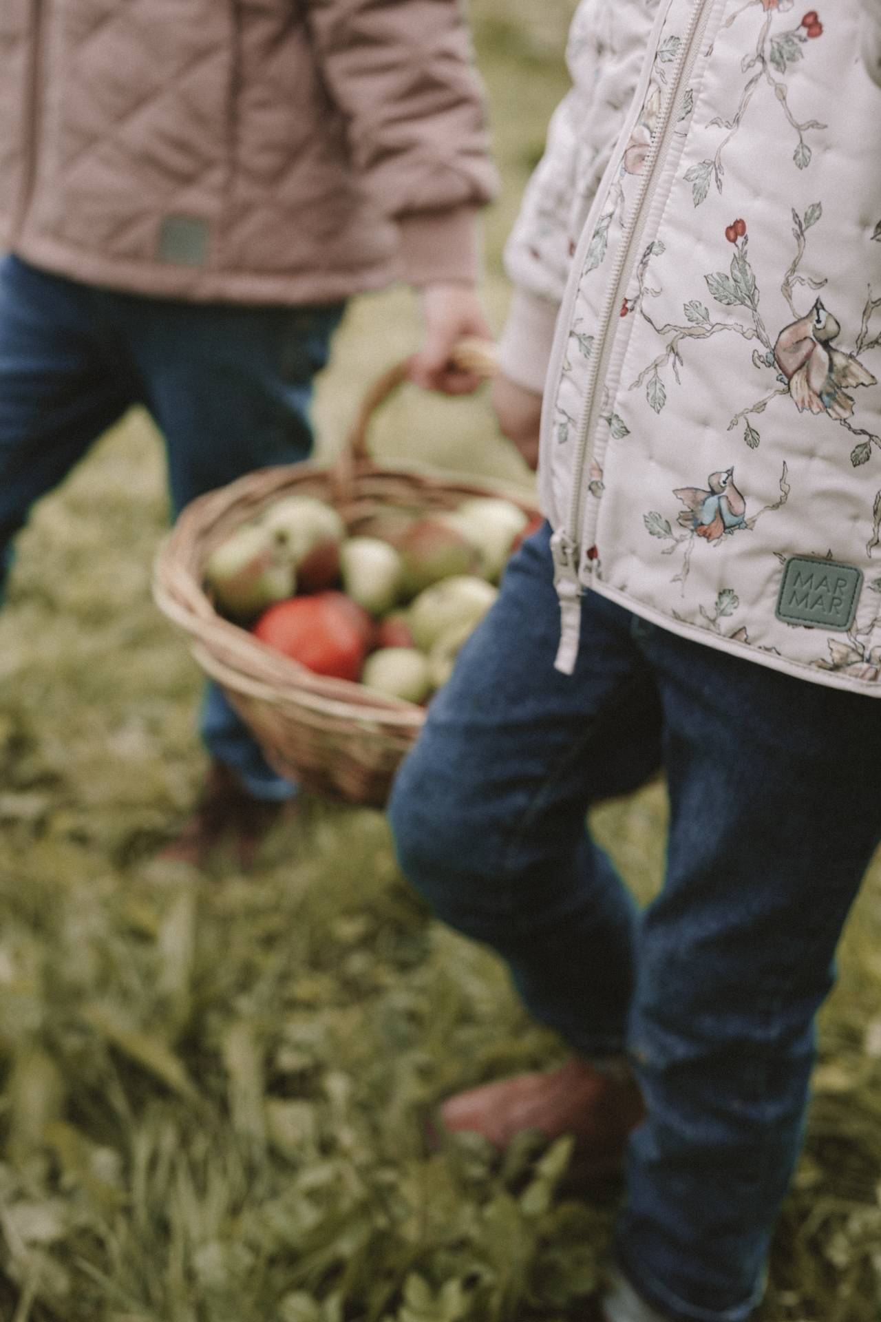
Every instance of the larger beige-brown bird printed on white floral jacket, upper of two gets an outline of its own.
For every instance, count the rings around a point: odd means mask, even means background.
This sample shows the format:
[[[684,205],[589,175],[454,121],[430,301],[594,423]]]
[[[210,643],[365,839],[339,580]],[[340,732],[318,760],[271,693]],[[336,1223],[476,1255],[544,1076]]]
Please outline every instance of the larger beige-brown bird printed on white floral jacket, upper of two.
[[[845,387],[877,386],[866,368],[852,353],[832,348],[841,327],[818,299],[806,317],[781,330],[774,358],[799,412],[827,412],[836,422],[853,414],[853,395]]]

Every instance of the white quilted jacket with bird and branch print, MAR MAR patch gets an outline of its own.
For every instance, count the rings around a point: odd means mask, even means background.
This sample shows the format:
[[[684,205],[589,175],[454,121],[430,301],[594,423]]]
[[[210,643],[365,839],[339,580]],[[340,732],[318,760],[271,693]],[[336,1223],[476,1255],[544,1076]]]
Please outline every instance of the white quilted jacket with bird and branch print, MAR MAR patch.
[[[509,245],[571,669],[593,590],[881,697],[878,0],[584,0]]]

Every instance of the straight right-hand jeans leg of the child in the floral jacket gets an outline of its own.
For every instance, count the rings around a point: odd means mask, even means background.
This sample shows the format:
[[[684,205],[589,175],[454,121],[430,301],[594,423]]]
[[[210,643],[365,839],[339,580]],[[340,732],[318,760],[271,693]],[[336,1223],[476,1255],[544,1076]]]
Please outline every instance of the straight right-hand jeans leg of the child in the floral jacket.
[[[618,1259],[676,1322],[745,1322],[798,1159],[814,1021],[881,837],[881,703],[643,633],[664,710],[668,874],[630,1044],[649,1116]]]

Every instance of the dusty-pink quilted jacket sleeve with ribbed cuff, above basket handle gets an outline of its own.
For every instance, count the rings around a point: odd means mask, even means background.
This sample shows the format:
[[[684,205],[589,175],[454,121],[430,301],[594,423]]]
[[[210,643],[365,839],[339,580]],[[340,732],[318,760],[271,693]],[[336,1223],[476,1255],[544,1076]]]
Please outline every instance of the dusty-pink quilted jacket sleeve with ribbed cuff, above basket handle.
[[[409,278],[473,278],[476,209],[497,181],[458,0],[305,5],[354,167],[400,222]]]

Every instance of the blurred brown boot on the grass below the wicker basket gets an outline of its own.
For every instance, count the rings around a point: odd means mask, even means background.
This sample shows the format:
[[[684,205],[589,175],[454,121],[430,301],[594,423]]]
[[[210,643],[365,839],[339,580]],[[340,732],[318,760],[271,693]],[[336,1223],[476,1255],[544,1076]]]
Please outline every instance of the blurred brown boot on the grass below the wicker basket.
[[[226,839],[232,845],[242,871],[250,871],[264,838],[296,810],[295,802],[268,802],[255,798],[232,772],[213,761],[195,810],[159,858],[205,867],[214,850]]]

